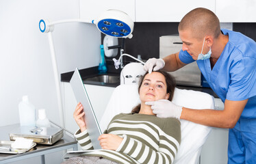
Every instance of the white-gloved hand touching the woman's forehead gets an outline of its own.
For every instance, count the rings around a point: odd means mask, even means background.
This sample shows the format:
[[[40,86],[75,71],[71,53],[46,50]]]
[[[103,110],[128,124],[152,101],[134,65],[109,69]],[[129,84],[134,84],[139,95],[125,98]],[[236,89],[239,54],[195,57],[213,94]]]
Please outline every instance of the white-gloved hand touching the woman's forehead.
[[[155,57],[153,57],[146,61],[144,64],[144,70],[149,71],[149,74],[151,74],[152,70],[155,71],[164,68],[164,64],[163,59],[155,59]]]

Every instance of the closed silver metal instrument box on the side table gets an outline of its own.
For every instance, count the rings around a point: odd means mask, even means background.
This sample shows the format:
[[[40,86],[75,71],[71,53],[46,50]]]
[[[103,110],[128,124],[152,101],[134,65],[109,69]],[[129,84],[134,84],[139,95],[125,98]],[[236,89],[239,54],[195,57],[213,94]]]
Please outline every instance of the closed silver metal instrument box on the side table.
[[[20,126],[9,133],[10,140],[17,137],[33,139],[34,142],[43,145],[52,145],[63,137],[64,130],[59,127]]]

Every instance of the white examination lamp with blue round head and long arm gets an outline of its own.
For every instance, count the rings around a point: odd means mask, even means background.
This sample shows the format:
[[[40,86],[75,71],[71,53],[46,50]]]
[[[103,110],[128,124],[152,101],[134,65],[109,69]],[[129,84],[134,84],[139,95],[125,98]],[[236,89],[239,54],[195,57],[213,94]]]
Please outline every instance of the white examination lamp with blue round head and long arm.
[[[39,29],[42,33],[48,33],[50,50],[51,50],[51,60],[53,64],[53,72],[55,77],[55,85],[57,91],[57,102],[60,112],[60,123],[64,126],[64,114],[62,108],[62,96],[60,92],[60,79],[59,73],[57,70],[57,61],[55,56],[55,49],[53,45],[53,36],[52,32],[54,30],[54,25],[62,23],[92,23],[97,26],[99,31],[104,33],[107,36],[113,36],[117,38],[132,38],[133,32],[133,20],[125,13],[120,10],[107,10],[97,20],[83,20],[80,18],[77,19],[67,19],[67,20],[58,20],[55,22],[49,22],[49,20],[40,20]],[[65,127],[65,126],[64,126]]]

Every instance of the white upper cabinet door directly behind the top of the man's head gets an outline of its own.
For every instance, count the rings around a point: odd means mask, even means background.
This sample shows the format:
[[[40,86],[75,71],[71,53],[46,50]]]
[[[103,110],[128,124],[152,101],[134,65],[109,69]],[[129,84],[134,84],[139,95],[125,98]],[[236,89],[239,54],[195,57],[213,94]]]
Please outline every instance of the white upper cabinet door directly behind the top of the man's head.
[[[199,7],[215,12],[215,0],[140,0],[136,1],[136,22],[179,22],[190,10]]]

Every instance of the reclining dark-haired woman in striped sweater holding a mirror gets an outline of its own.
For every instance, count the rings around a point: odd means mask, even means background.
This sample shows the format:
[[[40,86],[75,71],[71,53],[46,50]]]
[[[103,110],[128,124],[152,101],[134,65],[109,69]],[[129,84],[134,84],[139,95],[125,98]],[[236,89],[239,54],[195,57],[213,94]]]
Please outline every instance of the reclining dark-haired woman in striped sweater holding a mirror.
[[[172,163],[181,142],[181,124],[175,118],[157,118],[147,101],[172,100],[175,79],[162,70],[146,72],[138,87],[141,104],[131,113],[120,113],[99,136],[102,150],[75,156],[64,163]],[[74,118],[79,126],[75,133],[83,150],[92,150],[90,137],[79,103]]]

